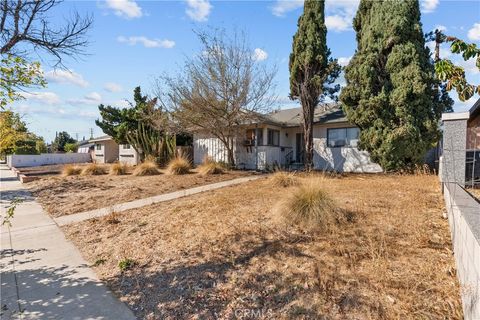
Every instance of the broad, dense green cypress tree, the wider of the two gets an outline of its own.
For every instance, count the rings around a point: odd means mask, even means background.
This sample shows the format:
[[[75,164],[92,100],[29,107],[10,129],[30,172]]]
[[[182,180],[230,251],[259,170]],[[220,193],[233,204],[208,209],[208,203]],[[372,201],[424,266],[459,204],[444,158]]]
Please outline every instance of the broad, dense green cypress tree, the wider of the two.
[[[361,0],[353,27],[357,50],[340,99],[361,130],[359,147],[384,170],[421,163],[451,99],[436,86],[418,0]]]

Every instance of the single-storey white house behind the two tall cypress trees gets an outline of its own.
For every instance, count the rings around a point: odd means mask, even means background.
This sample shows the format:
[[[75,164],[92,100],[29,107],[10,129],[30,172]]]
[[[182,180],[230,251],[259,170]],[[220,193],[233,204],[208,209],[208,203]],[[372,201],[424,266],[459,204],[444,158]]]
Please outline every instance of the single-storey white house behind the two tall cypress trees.
[[[381,172],[366,151],[357,148],[359,129],[349,123],[339,104],[323,104],[314,114],[314,169],[338,172]],[[193,135],[194,163],[208,156],[227,162],[222,143],[205,132]],[[235,138],[235,160],[240,169],[269,169],[274,166],[301,167],[304,140],[301,108],[263,115],[245,125]]]

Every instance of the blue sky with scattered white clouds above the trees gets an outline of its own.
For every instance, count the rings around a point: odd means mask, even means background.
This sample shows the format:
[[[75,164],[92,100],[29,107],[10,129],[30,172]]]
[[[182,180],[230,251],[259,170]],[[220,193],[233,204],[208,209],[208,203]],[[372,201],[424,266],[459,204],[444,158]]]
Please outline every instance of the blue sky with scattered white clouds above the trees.
[[[470,42],[480,42],[480,1],[420,0],[424,32],[436,27]],[[67,131],[81,139],[101,135],[95,126],[98,104],[126,106],[133,88],[140,85],[152,92],[155,77],[181,70],[186,56],[199,52],[193,30],[221,27],[245,30],[259,63],[276,65],[276,93],[279,107],[287,106],[288,56],[303,1],[67,1],[52,12],[51,19],[62,23],[74,10],[91,14],[88,55],[66,60],[69,70],[52,70],[46,57],[43,70],[48,87],[25,94],[12,108],[24,115],[29,128],[51,141],[56,131]],[[327,0],[328,44],[334,57],[346,64],[356,47],[351,20],[358,0]],[[457,60],[446,48],[442,57]],[[480,83],[473,61],[461,62],[467,77]],[[342,80],[340,79],[341,83]],[[456,111],[467,110],[474,99],[461,103]],[[291,104],[290,104],[291,106]]]

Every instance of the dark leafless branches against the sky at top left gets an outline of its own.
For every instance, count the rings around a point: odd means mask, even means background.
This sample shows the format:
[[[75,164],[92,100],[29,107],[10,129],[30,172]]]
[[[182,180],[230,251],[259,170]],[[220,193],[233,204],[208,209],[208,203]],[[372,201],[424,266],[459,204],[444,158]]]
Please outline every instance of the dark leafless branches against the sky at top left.
[[[86,33],[91,27],[91,16],[81,17],[77,12],[63,26],[53,28],[48,13],[62,1],[58,0],[2,0],[0,4],[0,53],[25,58],[32,49],[44,51],[55,59],[55,66],[63,66],[63,57],[84,54],[88,44]]]

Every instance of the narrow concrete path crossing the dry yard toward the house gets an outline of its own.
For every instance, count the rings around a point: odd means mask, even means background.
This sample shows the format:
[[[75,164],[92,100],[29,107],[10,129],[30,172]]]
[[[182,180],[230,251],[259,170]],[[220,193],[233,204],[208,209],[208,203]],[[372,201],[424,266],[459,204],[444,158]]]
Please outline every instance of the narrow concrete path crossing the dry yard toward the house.
[[[237,178],[237,179],[233,179],[233,180],[227,180],[227,181],[207,184],[207,185],[200,186],[200,187],[175,191],[175,192],[171,192],[171,193],[165,193],[165,194],[161,194],[161,195],[154,196],[154,197],[149,197],[149,198],[124,202],[124,203],[119,203],[119,204],[116,204],[116,205],[113,205],[113,206],[110,206],[110,207],[106,207],[106,208],[95,209],[95,210],[80,212],[80,213],[76,213],[76,214],[61,216],[61,217],[58,217],[58,218],[54,218],[54,220],[59,226],[64,226],[64,225],[67,225],[67,224],[77,223],[77,222],[92,219],[92,218],[103,217],[103,216],[106,216],[106,215],[108,215],[112,212],[122,212],[122,211],[129,210],[129,209],[140,208],[140,207],[148,206],[148,205],[151,205],[151,204],[154,204],[154,203],[170,201],[170,200],[190,196],[190,195],[193,195],[193,194],[197,194],[197,193],[201,193],[201,192],[205,192],[205,191],[209,191],[209,190],[220,189],[220,188],[224,188],[224,187],[228,187],[228,186],[233,186],[233,185],[245,183],[247,181],[257,180],[257,179],[260,179],[260,178],[265,178],[265,176],[264,175],[255,175],[255,176],[248,176],[248,177],[242,177],[242,178]]]

